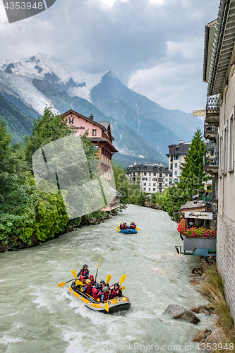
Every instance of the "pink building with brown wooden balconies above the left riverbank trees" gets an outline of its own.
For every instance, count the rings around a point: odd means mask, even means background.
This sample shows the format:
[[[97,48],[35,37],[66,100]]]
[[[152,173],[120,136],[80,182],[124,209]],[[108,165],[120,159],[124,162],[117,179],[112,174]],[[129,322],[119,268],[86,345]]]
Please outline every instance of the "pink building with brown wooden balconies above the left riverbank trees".
[[[78,131],[80,135],[88,131],[88,138],[97,149],[97,155],[100,157],[100,169],[104,173],[104,178],[111,185],[112,177],[112,156],[117,152],[116,148],[112,145],[114,138],[111,133],[109,121],[95,121],[94,116],[91,114],[89,117],[74,112],[72,109],[63,114],[68,120],[68,125]],[[111,188],[114,200],[103,210],[109,211],[118,208],[120,205],[121,193]]]

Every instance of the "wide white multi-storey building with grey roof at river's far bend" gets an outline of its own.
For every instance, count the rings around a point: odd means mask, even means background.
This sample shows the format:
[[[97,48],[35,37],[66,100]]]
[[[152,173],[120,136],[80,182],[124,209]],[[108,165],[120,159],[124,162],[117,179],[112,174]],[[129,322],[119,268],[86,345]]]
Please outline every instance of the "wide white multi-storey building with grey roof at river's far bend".
[[[140,163],[125,168],[126,176],[131,183],[140,184],[145,193],[162,193],[169,186],[169,168],[162,163]]]

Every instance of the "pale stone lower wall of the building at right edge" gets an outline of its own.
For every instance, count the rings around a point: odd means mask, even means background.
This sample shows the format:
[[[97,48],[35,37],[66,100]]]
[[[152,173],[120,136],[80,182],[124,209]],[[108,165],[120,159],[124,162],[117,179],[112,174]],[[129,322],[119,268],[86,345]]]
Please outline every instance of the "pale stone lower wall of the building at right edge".
[[[217,268],[224,280],[224,289],[231,316],[235,321],[235,229],[217,214]]]

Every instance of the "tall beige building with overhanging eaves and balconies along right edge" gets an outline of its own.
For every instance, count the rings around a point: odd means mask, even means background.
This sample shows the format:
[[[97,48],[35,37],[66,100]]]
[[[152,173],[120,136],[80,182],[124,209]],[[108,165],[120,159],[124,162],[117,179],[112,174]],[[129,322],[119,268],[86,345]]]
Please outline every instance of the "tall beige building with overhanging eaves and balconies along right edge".
[[[218,198],[217,267],[235,319],[234,23],[235,0],[220,0],[216,25],[205,26],[203,80],[208,83],[204,133],[215,143],[215,155],[205,161],[205,169]]]

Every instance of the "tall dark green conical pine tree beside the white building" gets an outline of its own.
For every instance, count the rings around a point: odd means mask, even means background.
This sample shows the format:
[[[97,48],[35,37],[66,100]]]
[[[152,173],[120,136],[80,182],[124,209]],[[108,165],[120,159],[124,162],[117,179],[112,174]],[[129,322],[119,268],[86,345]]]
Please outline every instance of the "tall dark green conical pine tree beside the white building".
[[[177,185],[177,189],[183,191],[188,201],[191,201],[193,195],[200,193],[200,190],[203,189],[203,181],[207,179],[203,162],[205,149],[206,144],[203,141],[202,133],[200,128],[197,128],[188,150],[186,162],[181,164],[181,176]]]

